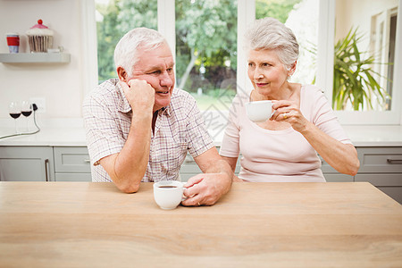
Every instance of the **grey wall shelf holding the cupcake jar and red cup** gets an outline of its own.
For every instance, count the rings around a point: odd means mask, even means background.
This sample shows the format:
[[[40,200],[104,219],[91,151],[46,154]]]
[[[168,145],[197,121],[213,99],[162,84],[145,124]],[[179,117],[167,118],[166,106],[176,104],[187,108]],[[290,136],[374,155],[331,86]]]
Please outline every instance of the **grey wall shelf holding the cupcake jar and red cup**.
[[[70,63],[67,53],[3,53],[0,63]]]

